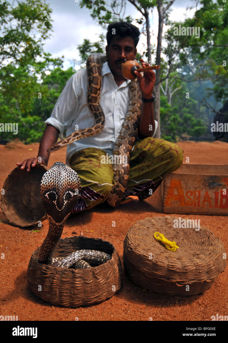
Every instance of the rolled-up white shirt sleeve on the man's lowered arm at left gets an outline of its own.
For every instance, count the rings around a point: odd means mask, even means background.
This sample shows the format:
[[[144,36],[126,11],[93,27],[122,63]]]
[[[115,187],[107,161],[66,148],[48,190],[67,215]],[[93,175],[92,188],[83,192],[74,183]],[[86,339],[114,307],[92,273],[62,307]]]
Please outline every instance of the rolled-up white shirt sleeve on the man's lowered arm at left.
[[[53,125],[63,133],[72,123],[72,112],[77,113],[79,96],[77,94],[76,74],[66,82],[62,93],[60,94],[55,107],[45,123]]]

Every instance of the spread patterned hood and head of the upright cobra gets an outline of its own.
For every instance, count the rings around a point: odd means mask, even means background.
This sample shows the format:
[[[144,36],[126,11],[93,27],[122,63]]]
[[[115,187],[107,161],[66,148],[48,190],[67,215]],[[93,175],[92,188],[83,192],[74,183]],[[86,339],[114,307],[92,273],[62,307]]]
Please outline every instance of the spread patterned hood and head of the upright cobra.
[[[81,183],[75,170],[56,162],[43,175],[40,198],[47,215],[56,223],[65,222],[80,197]]]

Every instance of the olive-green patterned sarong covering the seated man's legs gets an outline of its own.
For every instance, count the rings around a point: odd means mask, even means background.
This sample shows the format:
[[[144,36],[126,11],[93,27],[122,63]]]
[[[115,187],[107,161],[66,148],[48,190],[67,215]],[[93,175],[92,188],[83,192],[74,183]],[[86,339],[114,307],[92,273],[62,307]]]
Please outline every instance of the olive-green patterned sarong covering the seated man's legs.
[[[89,147],[69,158],[69,165],[81,181],[81,194],[72,213],[90,210],[104,202],[114,185],[113,165],[102,164],[104,150]],[[183,161],[183,150],[175,143],[147,137],[136,141],[130,154],[130,172],[124,197],[136,195],[148,198],[162,179],[178,169]]]

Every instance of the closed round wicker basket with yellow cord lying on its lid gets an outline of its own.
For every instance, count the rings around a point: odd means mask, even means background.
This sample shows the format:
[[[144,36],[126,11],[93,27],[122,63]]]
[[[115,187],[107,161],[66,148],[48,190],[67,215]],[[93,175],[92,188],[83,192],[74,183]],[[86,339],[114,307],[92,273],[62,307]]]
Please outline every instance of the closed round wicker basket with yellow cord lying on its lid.
[[[124,240],[124,266],[132,282],[145,289],[166,295],[203,293],[225,270],[223,242],[202,225],[200,230],[174,228],[174,219],[145,218],[132,225]],[[168,250],[155,232],[179,249]]]

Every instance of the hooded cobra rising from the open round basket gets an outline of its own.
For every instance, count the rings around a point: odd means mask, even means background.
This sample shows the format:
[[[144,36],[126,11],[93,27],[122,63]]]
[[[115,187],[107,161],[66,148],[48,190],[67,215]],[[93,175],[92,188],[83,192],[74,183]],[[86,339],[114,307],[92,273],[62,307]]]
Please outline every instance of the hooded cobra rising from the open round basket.
[[[68,215],[78,202],[80,196],[80,180],[73,169],[56,162],[42,177],[40,196],[49,219],[49,230],[39,251],[38,261],[53,267],[91,268],[111,259],[102,251],[78,250],[71,255],[52,259],[55,245],[58,243]]]

